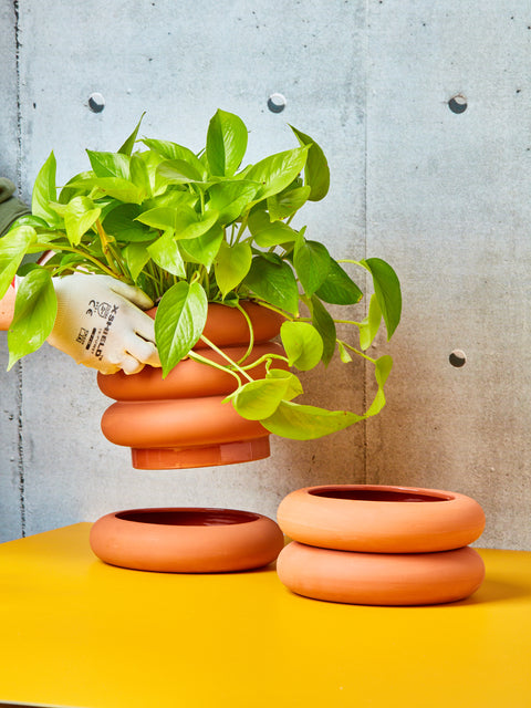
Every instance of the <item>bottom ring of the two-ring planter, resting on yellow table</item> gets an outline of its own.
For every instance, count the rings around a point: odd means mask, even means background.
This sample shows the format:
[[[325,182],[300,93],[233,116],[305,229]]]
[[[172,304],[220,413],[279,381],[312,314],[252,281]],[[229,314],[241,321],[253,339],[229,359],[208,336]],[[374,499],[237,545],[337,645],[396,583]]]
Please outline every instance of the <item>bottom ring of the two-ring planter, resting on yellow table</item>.
[[[295,541],[277,561],[280,581],[305,597],[357,605],[431,605],[471,595],[485,564],[470,548],[441,553],[355,553]]]

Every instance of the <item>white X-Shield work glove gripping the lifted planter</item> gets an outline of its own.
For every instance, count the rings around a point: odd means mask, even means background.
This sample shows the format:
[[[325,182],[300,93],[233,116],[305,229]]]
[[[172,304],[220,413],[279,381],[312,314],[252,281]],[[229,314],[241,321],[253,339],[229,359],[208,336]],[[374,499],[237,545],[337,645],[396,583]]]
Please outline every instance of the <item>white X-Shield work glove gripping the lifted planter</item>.
[[[143,312],[153,302],[142,290],[110,275],[74,274],[52,282],[58,316],[49,344],[102,374],[160,366],[154,322]]]

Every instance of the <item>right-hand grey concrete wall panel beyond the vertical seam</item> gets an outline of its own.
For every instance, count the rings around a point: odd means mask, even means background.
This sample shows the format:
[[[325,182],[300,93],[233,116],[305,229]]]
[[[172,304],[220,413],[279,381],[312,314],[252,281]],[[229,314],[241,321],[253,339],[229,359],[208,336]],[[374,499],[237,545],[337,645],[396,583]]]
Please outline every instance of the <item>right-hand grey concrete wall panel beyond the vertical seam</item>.
[[[473,496],[498,548],[531,548],[527,10],[369,14],[367,248],[396,264],[405,312],[367,475]]]

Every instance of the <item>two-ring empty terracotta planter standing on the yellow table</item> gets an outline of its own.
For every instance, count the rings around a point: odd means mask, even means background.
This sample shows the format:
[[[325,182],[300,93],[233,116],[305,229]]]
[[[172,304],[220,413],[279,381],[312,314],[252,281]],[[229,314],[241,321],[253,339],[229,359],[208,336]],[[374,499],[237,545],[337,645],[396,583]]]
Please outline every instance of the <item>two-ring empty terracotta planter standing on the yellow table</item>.
[[[306,487],[280,504],[293,539],[277,562],[293,592],[363,605],[454,602],[481,585],[485,565],[468,544],[485,528],[481,507],[456,492],[408,487]]]

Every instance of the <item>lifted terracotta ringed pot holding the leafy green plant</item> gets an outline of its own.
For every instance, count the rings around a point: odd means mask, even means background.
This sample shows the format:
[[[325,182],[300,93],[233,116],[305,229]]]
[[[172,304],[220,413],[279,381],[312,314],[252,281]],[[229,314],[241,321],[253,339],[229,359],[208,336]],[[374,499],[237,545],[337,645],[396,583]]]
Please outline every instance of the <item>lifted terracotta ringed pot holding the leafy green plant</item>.
[[[246,363],[268,352],[282,353],[270,340],[279,333],[283,319],[256,304],[244,308],[254,329],[254,347]],[[205,335],[236,361],[247,352],[249,327],[241,312],[232,308],[209,305]],[[195,348],[212,361],[223,361],[201,343]],[[263,373],[263,366],[250,372],[252,376]],[[111,442],[132,448],[137,469],[229,465],[270,455],[266,428],[221,403],[236,388],[230,374],[185,360],[165,379],[159,368],[146,366],[133,376],[98,374],[97,383],[116,400],[103,415],[103,434]]]

